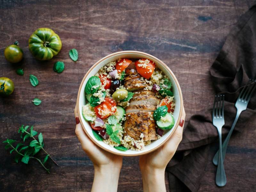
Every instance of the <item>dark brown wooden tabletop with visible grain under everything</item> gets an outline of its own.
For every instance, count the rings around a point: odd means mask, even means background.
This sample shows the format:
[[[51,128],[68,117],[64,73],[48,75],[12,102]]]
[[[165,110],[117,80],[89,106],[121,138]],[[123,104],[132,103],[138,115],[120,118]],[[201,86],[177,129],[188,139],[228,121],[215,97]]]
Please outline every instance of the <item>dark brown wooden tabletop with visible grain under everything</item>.
[[[186,120],[212,105],[209,68],[229,30],[253,0],[247,1],[7,1],[0,2],[0,76],[11,78],[15,91],[0,98],[0,190],[1,191],[90,191],[93,165],[75,135],[73,109],[79,84],[86,71],[100,58],[117,51],[137,50],[163,60],[180,82]],[[28,50],[28,38],[39,27],[52,28],[61,38],[60,53],[49,61],[37,61]],[[21,65],[10,64],[4,49],[18,40],[24,51]],[[79,59],[70,60],[76,48]],[[65,63],[61,74],[53,72],[56,61]],[[17,68],[24,69],[18,76]],[[32,87],[29,74],[39,85]],[[42,104],[35,106],[37,97]],[[202,99],[198,99],[202,98]],[[255,123],[255,121],[254,121]],[[48,175],[41,166],[16,164],[4,150],[6,138],[19,139],[20,124],[34,125],[43,132],[45,148],[58,162]],[[250,125],[253,127],[252,122]],[[255,126],[254,126],[255,128]],[[246,178],[255,174],[255,129],[231,140],[225,164],[228,177]],[[250,146],[248,148],[248,145]],[[247,150],[247,153],[244,151]],[[240,159],[232,154],[241,154]],[[39,157],[42,154],[39,154]],[[244,167],[236,167],[244,161]],[[210,162],[210,160],[209,160]],[[217,188],[215,170],[207,166],[199,191],[233,191],[235,184]],[[248,174],[250,173],[250,174]],[[209,180],[208,178],[212,178]],[[169,183],[166,175],[167,191]],[[138,157],[125,157],[118,191],[142,191]],[[249,189],[247,191],[250,191]]]

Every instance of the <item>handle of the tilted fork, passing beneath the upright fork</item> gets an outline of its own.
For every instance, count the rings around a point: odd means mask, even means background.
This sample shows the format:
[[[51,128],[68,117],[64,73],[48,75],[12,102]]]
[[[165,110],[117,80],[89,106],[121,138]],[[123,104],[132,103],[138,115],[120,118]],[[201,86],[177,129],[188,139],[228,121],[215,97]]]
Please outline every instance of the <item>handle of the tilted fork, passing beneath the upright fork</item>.
[[[235,120],[234,120],[234,122],[233,122],[233,124],[232,124],[232,126],[231,126],[231,129],[230,129],[229,132],[228,132],[228,135],[227,135],[225,141],[222,143],[222,157],[223,157],[223,162],[224,162],[224,160],[225,160],[225,155],[226,155],[226,151],[227,151],[227,148],[228,148],[229,139],[230,139],[231,134],[232,134],[232,132],[233,132],[235,126],[236,126],[236,122],[237,122],[237,120],[238,120],[238,118],[239,118],[241,112],[242,112],[242,111],[238,111],[238,110],[237,110],[237,112],[236,112],[236,118],[235,118]],[[219,160],[219,150],[217,151],[217,153],[216,153],[215,156],[213,157],[213,160],[212,160],[213,164],[218,165],[218,160]]]

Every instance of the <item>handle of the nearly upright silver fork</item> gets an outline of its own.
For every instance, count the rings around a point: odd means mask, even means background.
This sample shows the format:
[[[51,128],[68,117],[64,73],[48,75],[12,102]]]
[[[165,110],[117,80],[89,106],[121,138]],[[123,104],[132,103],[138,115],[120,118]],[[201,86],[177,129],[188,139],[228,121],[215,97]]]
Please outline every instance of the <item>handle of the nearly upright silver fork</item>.
[[[215,182],[216,185],[219,187],[223,187],[227,183],[227,178],[224,170],[224,165],[223,165],[223,158],[222,158],[222,141],[221,141],[221,131],[219,132],[219,144],[220,144],[220,150],[219,150],[219,159],[218,159],[218,168],[216,172],[216,178]]]

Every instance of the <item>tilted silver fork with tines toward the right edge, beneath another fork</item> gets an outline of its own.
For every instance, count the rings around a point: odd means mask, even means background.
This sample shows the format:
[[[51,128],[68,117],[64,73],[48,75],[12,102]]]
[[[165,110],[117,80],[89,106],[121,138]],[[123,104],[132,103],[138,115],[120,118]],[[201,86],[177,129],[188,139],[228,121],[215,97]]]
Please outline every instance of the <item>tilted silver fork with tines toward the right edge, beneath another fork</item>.
[[[226,155],[226,151],[227,151],[227,147],[228,147],[228,142],[229,139],[231,137],[231,134],[236,126],[236,122],[241,114],[242,111],[244,111],[247,108],[248,102],[250,101],[252,94],[256,88],[255,86],[256,84],[256,80],[249,80],[247,82],[247,84],[244,86],[243,90],[241,91],[241,93],[239,94],[237,101],[236,101],[236,118],[234,120],[234,123],[232,124],[232,127],[230,129],[230,131],[228,132],[228,136],[226,137],[225,141],[222,144],[222,156],[223,156],[223,161],[225,159],[225,155]],[[215,156],[213,157],[213,164],[217,165],[218,164],[218,159],[219,159],[219,151],[216,152]],[[220,162],[220,161],[219,161]]]

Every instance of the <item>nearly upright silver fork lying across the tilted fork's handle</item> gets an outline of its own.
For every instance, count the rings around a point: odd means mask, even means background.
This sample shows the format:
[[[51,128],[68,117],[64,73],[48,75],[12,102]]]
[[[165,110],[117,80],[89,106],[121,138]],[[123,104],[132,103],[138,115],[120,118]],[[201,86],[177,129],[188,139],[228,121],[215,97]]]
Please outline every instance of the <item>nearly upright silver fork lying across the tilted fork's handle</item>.
[[[223,159],[222,159],[222,140],[221,140],[221,128],[225,124],[224,121],[224,95],[215,95],[215,100],[212,109],[212,124],[217,128],[219,133],[219,159],[218,167],[216,172],[215,182],[219,187],[223,187],[227,183],[227,178],[224,170]]]

